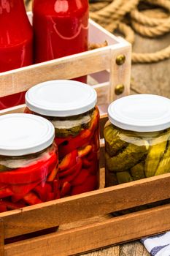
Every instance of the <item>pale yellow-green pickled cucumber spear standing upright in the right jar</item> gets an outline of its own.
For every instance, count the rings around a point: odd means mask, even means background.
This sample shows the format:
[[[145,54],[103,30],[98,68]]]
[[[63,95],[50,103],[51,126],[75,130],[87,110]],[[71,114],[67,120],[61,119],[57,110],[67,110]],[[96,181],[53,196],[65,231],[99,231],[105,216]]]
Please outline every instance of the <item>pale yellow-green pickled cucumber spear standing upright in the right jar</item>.
[[[166,144],[169,136],[169,133],[166,133],[162,136],[159,136],[158,138],[151,140],[152,145],[150,146],[144,165],[144,173],[146,177],[155,176],[155,172],[158,168],[160,159],[163,157],[163,154],[166,150]]]

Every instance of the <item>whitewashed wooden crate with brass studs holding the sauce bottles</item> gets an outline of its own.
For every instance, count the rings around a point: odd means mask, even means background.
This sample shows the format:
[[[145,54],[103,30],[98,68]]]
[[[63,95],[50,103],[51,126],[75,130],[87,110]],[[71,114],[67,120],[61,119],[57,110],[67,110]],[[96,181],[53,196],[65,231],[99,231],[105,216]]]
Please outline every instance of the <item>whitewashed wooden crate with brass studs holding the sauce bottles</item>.
[[[31,12],[28,12],[31,20]],[[98,105],[107,105],[117,97],[129,93],[131,77],[131,45],[121,37],[115,37],[93,20],[89,20],[89,42],[104,42],[108,46],[89,50],[84,53],[66,56],[40,64],[15,69],[0,74],[0,97],[26,91],[37,83],[47,80],[72,79],[82,75],[90,75],[96,84],[93,87],[98,93]],[[116,64],[117,56],[124,55],[125,63]],[[123,84],[123,94],[116,95],[115,87]],[[20,112],[20,107],[1,110],[0,114]]]

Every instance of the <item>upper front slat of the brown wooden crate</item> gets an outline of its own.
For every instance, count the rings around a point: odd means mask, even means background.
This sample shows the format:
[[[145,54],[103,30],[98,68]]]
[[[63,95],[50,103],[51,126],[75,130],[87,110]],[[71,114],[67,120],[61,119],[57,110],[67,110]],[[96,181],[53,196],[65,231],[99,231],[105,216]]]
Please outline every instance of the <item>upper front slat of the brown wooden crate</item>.
[[[167,199],[169,184],[165,174],[5,212],[5,238]]]

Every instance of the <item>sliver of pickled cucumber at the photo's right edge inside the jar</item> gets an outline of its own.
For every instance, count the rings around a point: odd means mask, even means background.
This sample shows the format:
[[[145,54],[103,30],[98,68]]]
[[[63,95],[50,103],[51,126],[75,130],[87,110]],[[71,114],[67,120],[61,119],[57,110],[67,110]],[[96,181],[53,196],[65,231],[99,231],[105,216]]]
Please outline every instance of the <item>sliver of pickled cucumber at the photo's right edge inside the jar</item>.
[[[164,174],[164,173],[169,173],[169,172],[170,172],[170,142],[168,143],[166,151],[163,154],[163,157],[158,165],[158,168],[155,172],[155,176]]]

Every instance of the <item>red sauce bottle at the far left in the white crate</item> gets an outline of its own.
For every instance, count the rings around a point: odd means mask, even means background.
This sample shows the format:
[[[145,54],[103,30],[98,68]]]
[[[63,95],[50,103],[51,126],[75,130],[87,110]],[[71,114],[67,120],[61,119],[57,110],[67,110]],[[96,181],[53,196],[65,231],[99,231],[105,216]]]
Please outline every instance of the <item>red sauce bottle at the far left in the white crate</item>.
[[[0,72],[33,64],[33,31],[23,0],[0,1]],[[25,92],[0,98],[0,110],[25,102]]]

